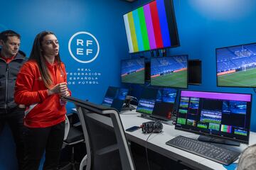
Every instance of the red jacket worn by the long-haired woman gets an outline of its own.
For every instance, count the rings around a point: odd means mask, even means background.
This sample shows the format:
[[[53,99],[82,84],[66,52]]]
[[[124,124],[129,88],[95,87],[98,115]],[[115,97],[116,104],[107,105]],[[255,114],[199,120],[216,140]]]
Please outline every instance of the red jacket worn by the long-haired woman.
[[[65,65],[61,63],[62,71],[58,64],[46,62],[50,77],[56,84],[67,82]],[[24,125],[29,128],[46,128],[57,125],[65,120],[65,105],[60,104],[60,96],[48,96],[46,86],[34,60],[29,60],[21,67],[16,79],[14,100],[18,104],[26,105]]]

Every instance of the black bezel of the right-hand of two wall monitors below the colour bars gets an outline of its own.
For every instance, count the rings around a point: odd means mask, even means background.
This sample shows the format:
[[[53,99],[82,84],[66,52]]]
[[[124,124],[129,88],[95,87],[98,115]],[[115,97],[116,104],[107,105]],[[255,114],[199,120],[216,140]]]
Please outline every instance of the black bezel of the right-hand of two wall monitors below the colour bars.
[[[151,57],[150,59],[150,63],[153,59],[158,59],[158,58],[168,58],[168,57],[179,57],[179,56],[186,56],[186,60],[187,60],[187,64],[186,64],[186,87],[178,87],[178,86],[159,86],[159,85],[154,85],[151,84],[151,66],[152,64],[150,64],[150,85],[154,86],[154,87],[158,87],[158,88],[177,88],[177,89],[188,89],[188,55],[170,55],[170,56],[166,56],[166,57]]]

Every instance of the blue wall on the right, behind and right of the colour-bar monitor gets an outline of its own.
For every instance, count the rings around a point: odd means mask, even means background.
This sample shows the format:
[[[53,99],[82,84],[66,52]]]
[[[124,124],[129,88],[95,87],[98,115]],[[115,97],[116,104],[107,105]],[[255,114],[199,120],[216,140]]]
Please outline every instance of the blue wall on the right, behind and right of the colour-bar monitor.
[[[147,2],[136,1],[132,8]],[[187,54],[188,59],[202,60],[202,84],[188,89],[252,94],[251,130],[256,132],[255,92],[217,87],[215,63],[215,48],[256,42],[256,1],[174,0],[174,9],[181,46],[169,50],[169,55]],[[149,52],[142,55],[150,56]]]

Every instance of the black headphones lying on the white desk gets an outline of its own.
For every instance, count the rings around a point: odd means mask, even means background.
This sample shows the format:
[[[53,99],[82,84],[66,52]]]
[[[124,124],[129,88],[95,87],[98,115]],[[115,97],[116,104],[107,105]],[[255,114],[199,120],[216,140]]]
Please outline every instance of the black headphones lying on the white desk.
[[[143,133],[159,133],[163,129],[163,124],[160,121],[150,121],[142,123],[141,127]]]

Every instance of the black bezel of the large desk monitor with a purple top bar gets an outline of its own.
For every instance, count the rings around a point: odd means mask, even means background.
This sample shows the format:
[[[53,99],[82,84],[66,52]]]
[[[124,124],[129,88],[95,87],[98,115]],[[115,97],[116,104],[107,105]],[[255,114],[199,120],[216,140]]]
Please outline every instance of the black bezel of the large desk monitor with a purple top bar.
[[[181,90],[181,93],[182,91],[188,91],[188,90]],[[191,90],[189,90],[191,91]],[[198,91],[198,92],[206,92],[206,93],[218,93],[218,94],[242,94],[242,93],[232,93],[232,92],[217,92],[217,91]],[[214,134],[210,134],[210,133],[206,133],[206,132],[201,132],[201,131],[196,131],[196,130],[191,130],[191,129],[188,129],[188,128],[179,128],[177,126],[177,120],[178,120],[178,107],[179,107],[179,103],[181,102],[181,93],[180,93],[180,96],[179,96],[179,100],[178,100],[178,104],[177,104],[177,115],[176,115],[176,125],[175,125],[175,129],[176,130],[183,130],[183,131],[186,131],[186,132],[193,132],[195,134],[198,134],[198,135],[204,135],[204,136],[208,136],[208,137],[218,137],[218,138],[221,138],[221,139],[225,139],[225,140],[232,140],[232,141],[236,141],[236,142],[241,142],[241,143],[244,143],[244,144],[249,144],[249,140],[250,140],[250,125],[251,125],[251,118],[252,118],[252,94],[246,94],[246,95],[250,95],[250,113],[249,113],[249,123],[248,123],[248,137],[247,137],[247,141],[245,140],[238,140],[238,139],[234,139],[232,137],[226,137],[226,136],[220,136],[220,135],[214,135]]]

